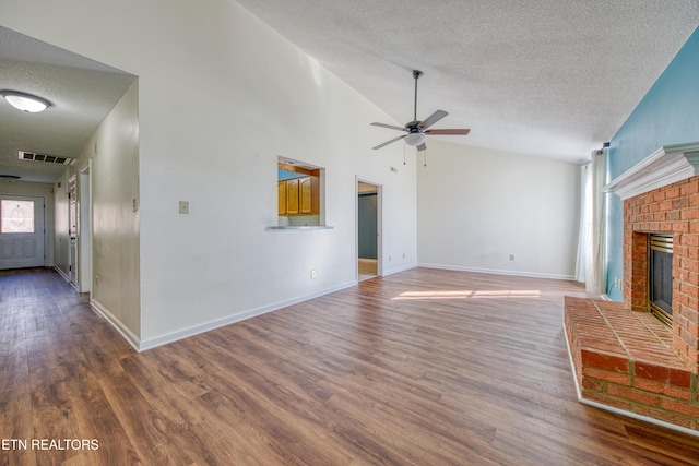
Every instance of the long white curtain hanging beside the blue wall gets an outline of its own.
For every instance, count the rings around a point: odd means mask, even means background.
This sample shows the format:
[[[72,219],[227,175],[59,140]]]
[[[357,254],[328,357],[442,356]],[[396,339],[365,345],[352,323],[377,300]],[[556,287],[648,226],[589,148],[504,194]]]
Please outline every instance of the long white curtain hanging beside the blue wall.
[[[606,294],[604,228],[606,200],[602,188],[607,178],[607,152],[594,151],[592,162],[581,167],[580,239],[576,279],[585,284],[585,291]]]

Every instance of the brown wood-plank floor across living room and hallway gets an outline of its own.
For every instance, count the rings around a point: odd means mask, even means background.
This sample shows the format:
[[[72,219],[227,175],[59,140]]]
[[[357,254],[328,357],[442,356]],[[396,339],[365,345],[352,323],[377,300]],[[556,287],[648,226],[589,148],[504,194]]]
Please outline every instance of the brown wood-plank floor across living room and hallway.
[[[0,464],[699,463],[699,439],[577,402],[564,295],[414,268],[135,354],[56,273],[0,273],[0,440],[99,447]]]

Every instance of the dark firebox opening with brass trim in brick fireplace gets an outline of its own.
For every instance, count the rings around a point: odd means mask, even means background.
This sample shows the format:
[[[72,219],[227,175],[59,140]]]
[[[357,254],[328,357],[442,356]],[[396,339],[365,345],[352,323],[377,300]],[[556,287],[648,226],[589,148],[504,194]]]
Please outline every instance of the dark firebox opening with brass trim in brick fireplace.
[[[649,236],[648,300],[651,314],[662,323],[673,322],[673,236]]]

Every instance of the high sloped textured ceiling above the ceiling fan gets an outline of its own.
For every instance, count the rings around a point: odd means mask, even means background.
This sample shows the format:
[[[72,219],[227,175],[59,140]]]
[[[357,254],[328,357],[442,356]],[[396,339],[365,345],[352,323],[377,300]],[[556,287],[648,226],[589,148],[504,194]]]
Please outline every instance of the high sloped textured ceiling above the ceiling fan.
[[[615,134],[699,24],[699,0],[239,3],[401,124],[419,69],[417,118],[471,128],[450,141],[567,162]]]

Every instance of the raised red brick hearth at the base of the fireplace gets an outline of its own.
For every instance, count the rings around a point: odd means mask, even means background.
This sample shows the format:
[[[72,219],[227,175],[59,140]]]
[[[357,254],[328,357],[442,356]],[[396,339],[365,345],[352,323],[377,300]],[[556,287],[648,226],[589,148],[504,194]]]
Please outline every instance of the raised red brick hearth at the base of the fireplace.
[[[657,319],[621,302],[568,297],[565,325],[583,399],[699,430],[697,374]]]

